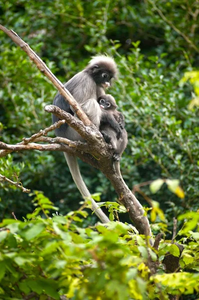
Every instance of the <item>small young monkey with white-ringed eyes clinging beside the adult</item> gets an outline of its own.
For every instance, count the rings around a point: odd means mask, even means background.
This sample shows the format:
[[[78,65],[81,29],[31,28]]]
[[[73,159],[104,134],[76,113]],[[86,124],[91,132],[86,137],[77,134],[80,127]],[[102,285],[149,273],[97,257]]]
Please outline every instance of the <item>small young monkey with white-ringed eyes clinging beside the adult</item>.
[[[112,145],[115,170],[122,177],[120,158],[128,143],[127,131],[124,128],[124,115],[116,110],[117,104],[112,95],[104,94],[97,101],[102,110],[100,131],[106,142],[110,142]],[[117,132],[116,125],[119,125],[122,130],[120,135]]]

